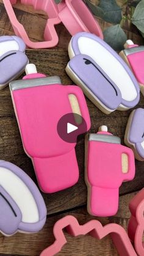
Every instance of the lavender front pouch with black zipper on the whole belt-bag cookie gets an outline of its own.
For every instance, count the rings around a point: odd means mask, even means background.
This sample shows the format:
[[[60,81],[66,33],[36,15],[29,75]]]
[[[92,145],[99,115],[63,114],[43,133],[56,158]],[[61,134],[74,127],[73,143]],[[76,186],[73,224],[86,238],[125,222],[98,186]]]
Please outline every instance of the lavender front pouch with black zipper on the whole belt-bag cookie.
[[[85,64],[90,60],[92,64]],[[110,109],[117,109],[121,104],[121,92],[115,83],[104,73],[91,57],[79,54],[70,60],[69,65],[76,74],[81,74],[81,81],[87,84],[94,95]],[[110,100],[109,100],[110,95]]]

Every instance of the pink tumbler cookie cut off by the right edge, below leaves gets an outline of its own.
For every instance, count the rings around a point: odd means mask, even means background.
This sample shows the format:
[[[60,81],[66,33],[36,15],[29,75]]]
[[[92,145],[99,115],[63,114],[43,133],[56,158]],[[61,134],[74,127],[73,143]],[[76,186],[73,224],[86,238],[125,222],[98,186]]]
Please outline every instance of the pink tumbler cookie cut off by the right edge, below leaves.
[[[144,46],[135,45],[131,40],[127,40],[124,48],[120,52],[120,56],[134,72],[140,84],[140,90],[144,95]]]

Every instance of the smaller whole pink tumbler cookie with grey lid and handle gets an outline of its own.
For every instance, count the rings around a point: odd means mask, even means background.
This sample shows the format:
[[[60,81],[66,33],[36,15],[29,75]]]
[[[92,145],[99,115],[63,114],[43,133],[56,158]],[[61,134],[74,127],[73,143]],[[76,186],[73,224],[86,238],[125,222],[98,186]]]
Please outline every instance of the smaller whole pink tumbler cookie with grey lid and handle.
[[[85,137],[85,181],[88,188],[88,213],[113,216],[118,211],[119,188],[135,176],[134,153],[121,140],[101,126]]]

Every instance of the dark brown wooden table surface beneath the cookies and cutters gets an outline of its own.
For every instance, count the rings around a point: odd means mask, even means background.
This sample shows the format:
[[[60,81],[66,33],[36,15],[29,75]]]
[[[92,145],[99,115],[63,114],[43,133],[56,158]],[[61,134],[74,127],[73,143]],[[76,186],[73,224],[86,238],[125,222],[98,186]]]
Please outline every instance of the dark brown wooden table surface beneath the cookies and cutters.
[[[119,2],[121,3],[123,1],[121,0]],[[38,15],[38,11],[34,11],[32,7],[27,8],[21,5],[20,2],[15,5],[15,13],[18,20],[24,24],[32,40],[43,40],[43,31],[47,19],[45,13],[39,12],[40,15]],[[107,26],[110,26],[110,24],[103,20],[98,19],[98,21],[103,30]],[[135,43],[143,43],[143,38],[134,26],[129,27],[126,24],[124,29],[128,37],[134,40]],[[62,78],[63,84],[72,84],[72,81],[65,73],[65,67],[68,62],[67,46],[71,36],[62,24],[57,26],[57,32],[60,40],[56,48],[40,50],[27,49],[26,54],[30,62],[37,65],[39,72],[46,73],[48,76],[58,75]],[[13,35],[13,29],[5,12],[2,0],[0,0],[0,35]],[[139,107],[143,107],[143,104],[144,98],[141,96]],[[115,111],[110,115],[105,115],[88,99],[87,105],[92,120],[90,132],[95,133],[98,131],[99,126],[107,125],[109,131],[120,136],[123,143],[124,131],[131,111]],[[67,214],[75,216],[80,224],[93,219],[92,216],[88,215],[86,208],[87,188],[84,182],[84,136],[81,137],[81,140],[76,146],[76,153],[80,172],[77,185],[55,194],[43,194],[48,209],[48,217],[43,230],[34,235],[17,233],[10,238],[0,235],[0,255],[39,255],[43,249],[53,243],[52,227],[58,219]],[[1,159],[10,161],[21,167],[37,183],[31,159],[26,156],[23,150],[9,87],[0,92],[0,156]],[[124,183],[120,188],[120,208],[117,215],[112,218],[96,218],[102,224],[116,222],[123,225],[126,229],[130,216],[128,210],[129,200],[134,196],[136,191],[143,188],[144,184],[144,163],[135,161],[135,164],[135,179],[131,182]],[[117,251],[113,247],[109,237],[104,238],[102,241],[96,241],[90,236],[71,238],[67,233],[66,236],[68,243],[63,247],[59,255],[117,255]]]

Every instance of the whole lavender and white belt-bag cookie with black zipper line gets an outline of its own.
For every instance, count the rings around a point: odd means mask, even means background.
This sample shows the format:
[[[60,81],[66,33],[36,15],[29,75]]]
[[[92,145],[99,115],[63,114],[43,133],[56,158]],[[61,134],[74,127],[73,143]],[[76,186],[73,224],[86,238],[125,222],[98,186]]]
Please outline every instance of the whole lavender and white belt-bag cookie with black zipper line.
[[[80,32],[71,38],[68,53],[68,75],[105,114],[139,103],[139,84],[132,71],[101,38]]]

